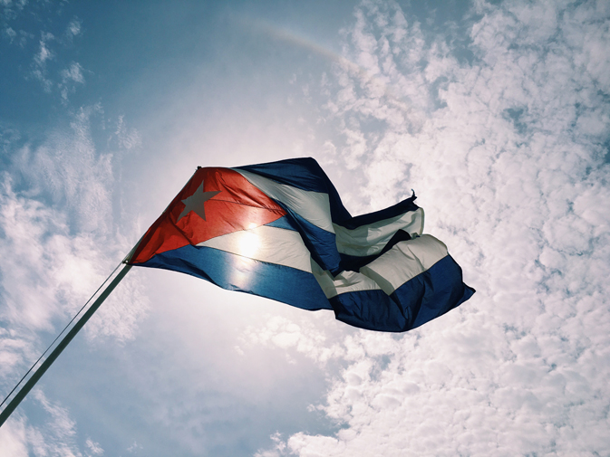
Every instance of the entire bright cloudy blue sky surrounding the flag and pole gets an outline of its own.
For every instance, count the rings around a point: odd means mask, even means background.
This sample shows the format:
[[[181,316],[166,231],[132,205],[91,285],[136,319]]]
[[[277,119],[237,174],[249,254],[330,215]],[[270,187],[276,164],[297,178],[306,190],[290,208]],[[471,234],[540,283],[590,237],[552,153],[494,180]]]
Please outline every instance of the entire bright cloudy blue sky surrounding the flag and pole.
[[[131,270],[11,456],[610,453],[610,5],[0,0],[7,393],[198,166],[414,189],[478,293],[390,335]]]

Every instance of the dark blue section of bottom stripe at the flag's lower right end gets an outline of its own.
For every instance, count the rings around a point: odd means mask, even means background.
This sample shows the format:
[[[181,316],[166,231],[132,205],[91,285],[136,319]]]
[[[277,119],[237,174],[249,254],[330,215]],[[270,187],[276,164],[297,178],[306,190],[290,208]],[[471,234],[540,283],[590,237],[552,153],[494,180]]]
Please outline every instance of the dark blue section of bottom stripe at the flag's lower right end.
[[[462,282],[460,266],[447,255],[390,296],[363,290],[337,295],[330,302],[336,319],[354,327],[401,332],[460,306],[474,291]]]

